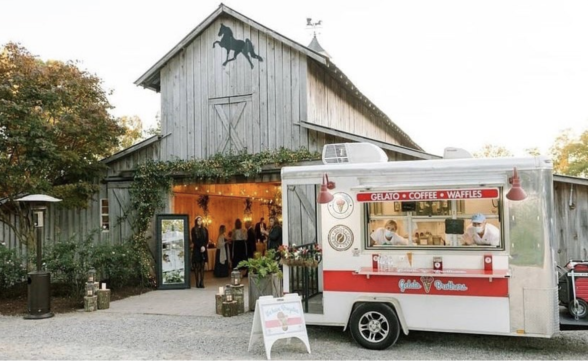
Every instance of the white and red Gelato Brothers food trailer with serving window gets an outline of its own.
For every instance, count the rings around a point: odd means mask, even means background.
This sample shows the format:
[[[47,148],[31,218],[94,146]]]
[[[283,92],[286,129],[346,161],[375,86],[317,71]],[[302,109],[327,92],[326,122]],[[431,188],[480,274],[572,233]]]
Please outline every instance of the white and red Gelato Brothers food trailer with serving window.
[[[307,325],[349,328],[369,349],[410,330],[559,332],[550,159],[388,162],[369,143],[331,144],[323,165],[282,168],[282,189],[284,245],[323,249]],[[318,202],[294,207],[297,189],[316,189]],[[473,215],[498,230],[495,243],[464,244]],[[373,240],[389,220],[405,243]],[[316,225],[316,240],[292,236],[300,222]],[[296,292],[293,272],[284,267],[285,292]]]

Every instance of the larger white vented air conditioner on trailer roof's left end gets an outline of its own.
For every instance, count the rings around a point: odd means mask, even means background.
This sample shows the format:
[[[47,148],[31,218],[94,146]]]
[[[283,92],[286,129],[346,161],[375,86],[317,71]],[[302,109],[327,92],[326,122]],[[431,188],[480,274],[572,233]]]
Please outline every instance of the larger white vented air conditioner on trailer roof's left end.
[[[375,163],[387,162],[388,156],[382,148],[372,143],[337,143],[323,147],[323,163]]]

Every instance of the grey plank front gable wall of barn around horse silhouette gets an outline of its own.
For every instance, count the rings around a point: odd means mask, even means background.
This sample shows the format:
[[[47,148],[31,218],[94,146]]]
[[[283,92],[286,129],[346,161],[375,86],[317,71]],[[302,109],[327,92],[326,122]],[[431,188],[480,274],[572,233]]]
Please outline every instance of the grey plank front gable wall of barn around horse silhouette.
[[[250,68],[239,54],[223,66],[226,49],[212,47],[221,23],[236,39],[250,39],[263,61],[252,59]],[[318,139],[299,126],[306,116],[306,62],[306,55],[247,24],[217,19],[162,68],[162,135],[168,135],[162,159],[318,149]]]

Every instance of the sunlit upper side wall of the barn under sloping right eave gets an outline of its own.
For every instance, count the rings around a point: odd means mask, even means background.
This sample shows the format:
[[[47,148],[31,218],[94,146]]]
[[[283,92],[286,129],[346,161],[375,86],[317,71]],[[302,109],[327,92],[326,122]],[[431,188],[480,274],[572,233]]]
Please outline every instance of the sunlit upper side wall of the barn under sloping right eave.
[[[403,144],[385,118],[370,110],[330,72],[308,62],[308,121],[391,144]]]

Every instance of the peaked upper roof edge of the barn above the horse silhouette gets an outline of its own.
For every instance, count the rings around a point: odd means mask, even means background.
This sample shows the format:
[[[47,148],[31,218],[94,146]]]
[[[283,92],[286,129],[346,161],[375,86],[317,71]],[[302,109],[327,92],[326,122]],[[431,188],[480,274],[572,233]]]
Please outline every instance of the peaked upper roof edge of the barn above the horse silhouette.
[[[340,71],[340,69],[335,65],[335,63],[330,61],[328,56],[320,54],[319,52],[309,48],[308,46],[299,44],[298,42],[293,41],[292,39],[289,39],[276,31],[273,31],[272,29],[269,29],[266,26],[263,26],[258,22],[253,21],[247,16],[240,14],[239,12],[229,8],[224,4],[220,4],[216,11],[214,11],[211,15],[204,19],[204,21],[202,21],[200,24],[198,24],[196,28],[194,28],[188,35],[186,35],[176,46],[174,46],[165,56],[163,56],[163,58],[159,59],[158,62],[151,66],[151,68],[149,68],[148,71],[146,71],[139,79],[135,81],[135,85],[143,86],[144,88],[152,89],[153,91],[159,92],[161,89],[160,71],[163,68],[163,66],[165,66],[168,61],[170,61],[174,56],[176,56],[176,54],[181,52],[182,49],[185,49],[189,44],[191,44],[199,35],[202,34],[203,31],[205,31],[206,28],[208,28],[209,25],[211,25],[219,16],[223,14],[230,15],[233,18],[238,19],[239,21],[249,25],[251,28],[254,28],[257,31],[262,32],[267,36],[272,36],[276,40],[283,42],[283,44],[286,44],[291,48],[300,51],[302,54],[307,55],[313,61],[316,61],[319,64],[319,66],[321,66],[323,69],[325,69],[326,72],[333,76],[333,78],[336,79],[336,81],[338,81],[343,88],[348,89],[351,95],[355,96],[355,98],[359,99],[359,101],[364,103],[364,105],[367,106],[370,109],[370,111],[373,112],[374,115],[384,119],[392,128],[392,130],[397,134],[399,139],[401,138],[403,140],[404,145],[409,146],[410,148],[415,149],[416,151],[425,153],[423,148],[417,145],[417,143],[415,143],[410,138],[410,136],[408,136],[404,131],[402,131],[402,129],[400,129],[399,126],[397,126],[384,112],[377,108],[377,106],[374,105],[368,99],[368,97],[363,95],[363,93],[358,90],[358,88],[349,80],[349,78],[342,71]],[[428,156],[426,158],[428,158]]]

